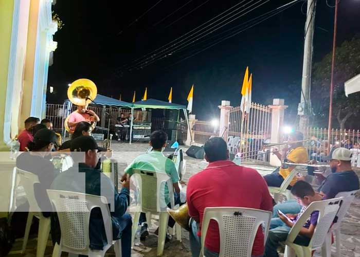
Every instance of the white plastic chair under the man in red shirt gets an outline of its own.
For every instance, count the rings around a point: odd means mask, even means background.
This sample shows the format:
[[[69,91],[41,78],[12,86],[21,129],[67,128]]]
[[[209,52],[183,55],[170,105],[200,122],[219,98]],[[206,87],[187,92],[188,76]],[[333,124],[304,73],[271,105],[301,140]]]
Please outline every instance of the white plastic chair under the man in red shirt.
[[[266,242],[272,213],[263,210],[240,207],[205,208],[201,228],[201,252],[204,255],[206,232],[210,220],[219,224],[220,252],[219,257],[250,257],[258,228],[262,226],[264,245]]]

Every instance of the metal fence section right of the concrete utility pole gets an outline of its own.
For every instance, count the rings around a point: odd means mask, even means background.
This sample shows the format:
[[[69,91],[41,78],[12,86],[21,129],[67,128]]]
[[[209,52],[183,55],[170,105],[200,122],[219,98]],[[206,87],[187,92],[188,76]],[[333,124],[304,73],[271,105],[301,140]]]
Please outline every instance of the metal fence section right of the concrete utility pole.
[[[309,157],[320,160],[322,156],[328,155],[328,145],[341,146],[347,149],[359,149],[360,131],[359,130],[338,130],[330,131],[330,139],[328,138],[328,130],[326,128],[308,127],[304,132],[304,139],[311,139],[311,143],[307,145]],[[358,151],[354,151],[358,152]]]

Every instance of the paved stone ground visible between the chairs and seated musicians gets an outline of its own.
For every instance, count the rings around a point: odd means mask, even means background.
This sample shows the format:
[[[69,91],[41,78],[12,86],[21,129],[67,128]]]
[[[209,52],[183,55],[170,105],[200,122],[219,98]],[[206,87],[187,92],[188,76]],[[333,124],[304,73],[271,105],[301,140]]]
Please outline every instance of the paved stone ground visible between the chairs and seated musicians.
[[[129,145],[127,143],[112,143],[112,149],[114,150],[114,158],[118,159],[119,162],[129,163],[138,156],[139,154],[146,151],[148,148],[148,144],[144,143],[134,143]],[[184,152],[186,147],[183,148]],[[185,156],[186,160],[186,174],[183,178],[184,181],[188,181],[189,177],[201,170],[203,170],[207,166],[207,162],[205,160],[194,159],[191,157]],[[258,172],[262,175],[266,175],[271,173],[274,168],[263,166],[260,164],[244,164],[245,166],[254,168],[258,170]],[[156,247],[157,247],[157,236],[154,235],[154,231],[157,228],[157,219],[158,216],[152,216],[152,227],[149,229],[150,235],[145,241],[140,242],[139,246],[135,246],[132,250],[132,256],[140,257],[152,257],[156,256]],[[345,218],[343,224],[341,224],[341,256],[348,257],[360,257],[360,199],[356,198],[354,203],[351,205],[349,213]],[[16,253],[19,252],[22,246],[22,238],[16,240],[13,246],[13,253],[10,256],[17,257],[21,256],[21,254]],[[25,256],[33,257],[36,255],[36,244],[37,238],[32,237],[29,238],[27,249],[25,252]],[[334,251],[334,248],[333,248]],[[51,256],[52,253],[52,245],[49,240],[48,246],[46,248],[45,257]],[[64,253],[63,253],[64,254]],[[106,255],[111,256],[115,255],[112,249],[110,249]],[[321,256],[318,252],[315,254],[316,256]],[[186,230],[182,230],[182,242],[176,240],[176,236],[172,238],[169,243],[166,243],[164,249],[164,255],[166,257],[188,257],[191,256],[190,248],[189,248],[189,232]],[[335,256],[335,253],[333,253]]]

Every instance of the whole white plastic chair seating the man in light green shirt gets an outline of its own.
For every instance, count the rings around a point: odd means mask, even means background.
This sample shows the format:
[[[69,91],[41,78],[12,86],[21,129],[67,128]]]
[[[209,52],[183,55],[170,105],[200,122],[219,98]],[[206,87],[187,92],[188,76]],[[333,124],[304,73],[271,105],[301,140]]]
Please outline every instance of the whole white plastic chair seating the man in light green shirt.
[[[134,175],[131,176],[138,186],[138,202],[137,206],[130,207],[131,212],[135,212],[131,245],[134,246],[135,233],[138,227],[140,213],[146,213],[146,219],[149,226],[151,226],[151,214],[159,213],[159,236],[157,240],[157,256],[163,255],[165,238],[169,221],[169,213],[167,212],[167,204],[165,203],[165,183],[168,186],[169,199],[171,209],[174,209],[174,191],[171,179],[168,174],[163,172],[155,172],[148,170],[133,170]],[[176,223],[176,238],[181,241],[181,227]]]

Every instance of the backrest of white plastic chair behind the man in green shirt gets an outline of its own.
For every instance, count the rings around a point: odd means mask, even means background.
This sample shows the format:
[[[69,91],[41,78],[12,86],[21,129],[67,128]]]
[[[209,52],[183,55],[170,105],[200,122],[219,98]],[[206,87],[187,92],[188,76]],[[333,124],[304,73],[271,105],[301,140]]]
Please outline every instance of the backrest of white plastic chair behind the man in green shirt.
[[[160,212],[167,207],[164,198],[165,185],[168,186],[169,199],[171,207],[174,207],[174,190],[170,176],[165,172],[156,172],[150,170],[133,170],[139,186],[141,212]]]

